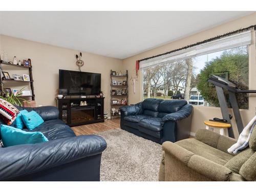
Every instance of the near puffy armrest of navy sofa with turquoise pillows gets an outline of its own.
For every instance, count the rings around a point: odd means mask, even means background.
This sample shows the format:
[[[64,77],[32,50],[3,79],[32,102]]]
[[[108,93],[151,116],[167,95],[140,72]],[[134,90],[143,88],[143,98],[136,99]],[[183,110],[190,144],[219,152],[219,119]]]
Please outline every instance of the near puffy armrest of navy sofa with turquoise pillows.
[[[10,180],[40,170],[100,154],[106,148],[102,137],[83,135],[0,148],[0,180]]]

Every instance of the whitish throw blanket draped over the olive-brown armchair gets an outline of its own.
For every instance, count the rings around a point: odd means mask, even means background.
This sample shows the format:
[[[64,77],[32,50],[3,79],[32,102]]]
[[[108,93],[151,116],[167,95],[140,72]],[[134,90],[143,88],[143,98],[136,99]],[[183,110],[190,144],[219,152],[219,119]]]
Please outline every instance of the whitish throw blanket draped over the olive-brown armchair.
[[[250,120],[250,122],[244,127],[244,130],[239,135],[238,141],[234,143],[230,148],[228,148],[227,150],[228,153],[238,154],[249,145],[251,133],[255,125],[256,125],[256,116],[253,117]]]

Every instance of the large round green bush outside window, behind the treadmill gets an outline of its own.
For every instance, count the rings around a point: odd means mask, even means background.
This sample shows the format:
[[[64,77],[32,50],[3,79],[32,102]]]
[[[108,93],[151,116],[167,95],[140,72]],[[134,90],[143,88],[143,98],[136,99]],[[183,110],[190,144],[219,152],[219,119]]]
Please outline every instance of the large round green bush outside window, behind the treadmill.
[[[230,52],[224,52],[220,57],[216,57],[206,63],[197,76],[197,88],[200,90],[203,98],[211,105],[219,106],[216,89],[207,82],[210,75],[227,78],[229,81],[237,83],[239,87],[248,89],[248,62],[247,52],[242,52],[241,48],[239,48],[237,51],[232,49]],[[228,94],[225,93],[225,95],[228,101]],[[238,94],[237,98],[239,108],[247,109],[248,96],[246,94]]]

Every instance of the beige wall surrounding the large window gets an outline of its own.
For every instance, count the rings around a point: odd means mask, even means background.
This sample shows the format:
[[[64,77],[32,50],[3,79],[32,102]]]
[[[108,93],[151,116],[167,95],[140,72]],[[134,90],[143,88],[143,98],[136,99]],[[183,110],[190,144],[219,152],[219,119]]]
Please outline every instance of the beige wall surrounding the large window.
[[[170,50],[178,49],[183,46],[194,44],[195,42],[205,40],[207,38],[215,37],[223,33],[227,33],[233,30],[240,28],[248,27],[250,25],[256,24],[256,13],[242,17],[238,20],[226,23],[224,25],[217,26],[215,28],[191,35],[180,40],[170,42],[164,46],[151,49],[149,51],[140,53],[138,55],[126,58],[123,60],[123,69],[127,69],[130,72],[130,76],[135,76],[135,62],[136,60],[150,57],[153,55],[161,54]],[[150,39],[149,39],[150,40]],[[253,44],[249,48],[249,89],[256,90],[256,62],[255,62],[255,33],[253,35]],[[138,81],[135,83],[136,94],[133,94],[133,87],[131,86],[130,80],[129,87],[129,101],[130,103],[137,103],[142,100],[142,83],[141,83],[141,74],[139,74]],[[255,115],[256,108],[256,95],[250,94],[249,97],[249,110],[241,110],[243,122],[248,123],[248,121]],[[196,132],[197,129],[204,128],[203,121],[211,119],[213,117],[221,117],[221,112],[219,108],[214,107],[204,107],[204,106],[195,106],[193,112],[193,120],[191,124],[191,132]],[[237,134],[236,134],[237,135]]]

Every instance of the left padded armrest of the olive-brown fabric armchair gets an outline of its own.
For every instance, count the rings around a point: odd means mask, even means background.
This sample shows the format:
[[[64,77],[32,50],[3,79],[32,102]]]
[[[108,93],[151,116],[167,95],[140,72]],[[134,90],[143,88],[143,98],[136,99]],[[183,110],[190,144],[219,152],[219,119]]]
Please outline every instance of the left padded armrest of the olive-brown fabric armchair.
[[[232,173],[227,167],[195,155],[175,143],[166,141],[163,143],[162,148],[165,154],[174,156],[187,167],[211,180],[228,181]]]

